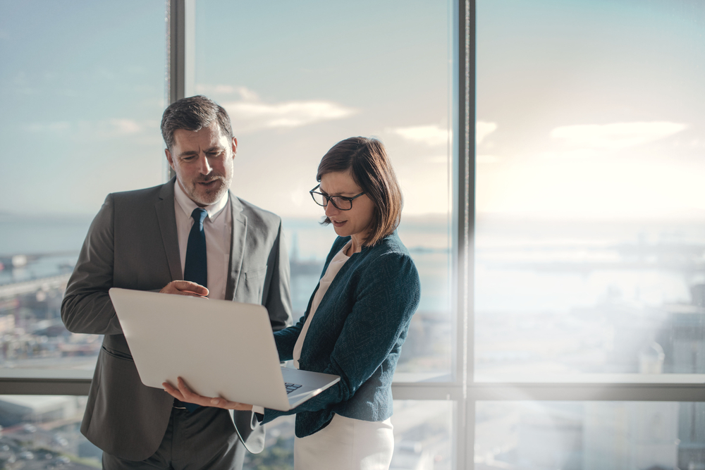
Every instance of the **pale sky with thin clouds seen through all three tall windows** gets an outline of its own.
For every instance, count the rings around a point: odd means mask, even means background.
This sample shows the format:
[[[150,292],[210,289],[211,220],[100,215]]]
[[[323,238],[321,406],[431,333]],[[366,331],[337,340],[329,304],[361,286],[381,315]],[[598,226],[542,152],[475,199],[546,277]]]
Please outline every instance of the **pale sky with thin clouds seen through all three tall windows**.
[[[198,1],[191,92],[231,113],[233,191],[317,217],[321,156],[365,135],[407,216],[448,214],[450,8]],[[704,18],[697,0],[478,1],[478,213],[705,214]],[[163,183],[165,58],[163,1],[0,0],[0,212],[94,214]]]

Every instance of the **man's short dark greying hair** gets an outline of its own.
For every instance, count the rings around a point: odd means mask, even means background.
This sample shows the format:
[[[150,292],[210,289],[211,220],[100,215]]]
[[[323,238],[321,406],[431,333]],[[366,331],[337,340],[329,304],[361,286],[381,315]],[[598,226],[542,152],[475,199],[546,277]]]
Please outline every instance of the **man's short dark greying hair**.
[[[174,132],[178,129],[200,130],[217,120],[221,133],[232,140],[233,127],[228,112],[212,99],[199,94],[195,97],[174,101],[161,116],[161,137],[171,151],[174,144]]]

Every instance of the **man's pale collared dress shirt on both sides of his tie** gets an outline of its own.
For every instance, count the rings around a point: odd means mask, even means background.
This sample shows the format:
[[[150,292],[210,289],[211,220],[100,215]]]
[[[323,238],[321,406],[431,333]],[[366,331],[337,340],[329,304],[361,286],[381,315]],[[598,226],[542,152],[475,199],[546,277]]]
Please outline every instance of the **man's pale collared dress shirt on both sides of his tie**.
[[[191,213],[198,206],[186,195],[178,184],[174,183],[174,209],[176,211],[176,231],[178,234],[178,251],[181,255],[181,272],[186,265],[186,247],[188,247],[188,234],[193,226]],[[230,239],[233,214],[230,210],[228,192],[223,194],[219,201],[205,206],[208,216],[203,221],[203,230],[206,233],[206,256],[208,264],[208,297],[211,299],[225,299],[225,290],[228,281],[228,264],[230,263]],[[223,210],[225,209],[225,210]]]

